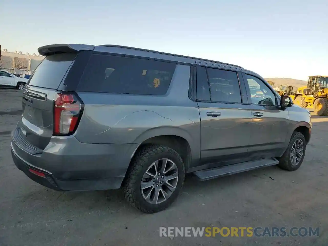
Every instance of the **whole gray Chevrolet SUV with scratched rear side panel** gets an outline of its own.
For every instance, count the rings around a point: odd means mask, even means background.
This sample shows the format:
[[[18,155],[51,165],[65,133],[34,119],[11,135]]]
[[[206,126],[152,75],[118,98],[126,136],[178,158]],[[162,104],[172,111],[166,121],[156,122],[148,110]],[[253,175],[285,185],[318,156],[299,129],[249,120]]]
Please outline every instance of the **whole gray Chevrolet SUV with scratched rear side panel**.
[[[54,190],[122,188],[145,213],[200,180],[301,165],[311,115],[240,66],[116,45],[56,44],[23,91],[15,165]]]

